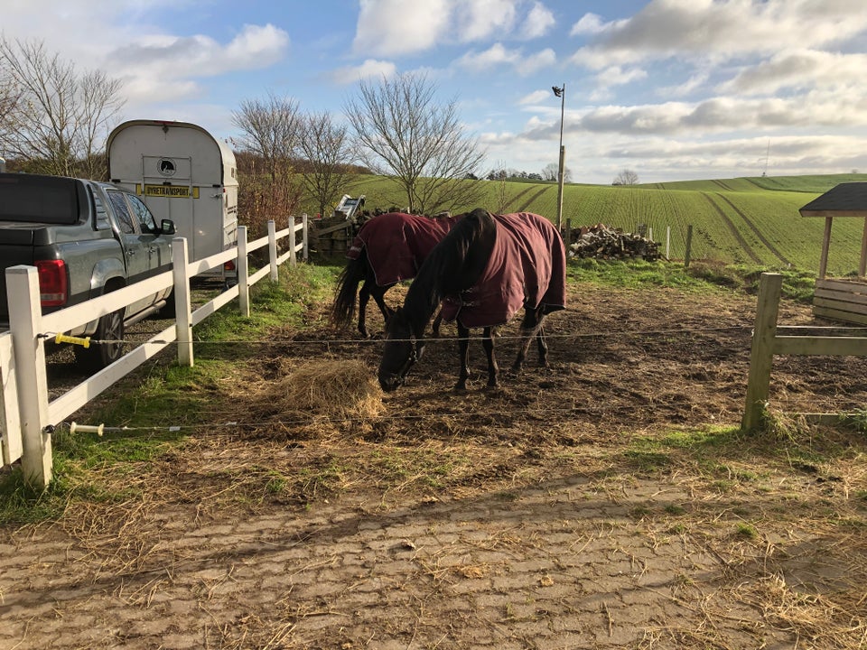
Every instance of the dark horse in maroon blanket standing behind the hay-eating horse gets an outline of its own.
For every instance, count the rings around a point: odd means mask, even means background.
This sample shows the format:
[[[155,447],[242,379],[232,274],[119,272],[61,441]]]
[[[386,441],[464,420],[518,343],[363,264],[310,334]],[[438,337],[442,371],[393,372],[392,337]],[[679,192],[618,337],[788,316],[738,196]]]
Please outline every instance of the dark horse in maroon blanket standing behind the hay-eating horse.
[[[349,261],[338,278],[331,320],[338,325],[349,325],[358,294],[359,332],[367,338],[370,297],[373,296],[383,318],[388,321],[392,310],[386,304],[386,292],[396,283],[414,278],[433,246],[460,218],[387,212],[367,221],[347,251]]]

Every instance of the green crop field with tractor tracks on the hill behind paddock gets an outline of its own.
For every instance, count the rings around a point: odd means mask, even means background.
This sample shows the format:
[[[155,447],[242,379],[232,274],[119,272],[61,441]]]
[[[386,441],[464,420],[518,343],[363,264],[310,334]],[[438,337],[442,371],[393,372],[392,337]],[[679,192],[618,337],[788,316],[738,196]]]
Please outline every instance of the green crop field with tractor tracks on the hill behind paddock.
[[[778,176],[676,181],[632,186],[568,184],[563,218],[573,228],[603,223],[637,232],[648,228],[663,253],[685,255],[687,227],[693,227],[693,259],[762,267],[817,271],[824,219],[804,218],[798,209],[841,182],[867,181],[867,174]],[[485,186],[491,211],[529,211],[555,221],[555,183],[467,181]],[[386,178],[362,177],[347,190],[364,194],[369,209],[405,203]],[[467,206],[467,209],[476,206]],[[837,218],[832,230],[828,273],[854,274],[861,255],[864,224]]]

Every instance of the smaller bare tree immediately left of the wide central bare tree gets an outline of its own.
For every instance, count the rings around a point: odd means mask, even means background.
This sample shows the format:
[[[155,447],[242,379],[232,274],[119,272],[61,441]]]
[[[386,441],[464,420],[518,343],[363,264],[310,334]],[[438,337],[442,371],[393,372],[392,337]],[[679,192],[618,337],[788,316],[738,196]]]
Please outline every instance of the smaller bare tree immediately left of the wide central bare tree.
[[[337,202],[338,194],[355,176],[348,127],[337,124],[327,112],[305,116],[298,149],[305,159],[304,187],[324,217],[325,209]]]

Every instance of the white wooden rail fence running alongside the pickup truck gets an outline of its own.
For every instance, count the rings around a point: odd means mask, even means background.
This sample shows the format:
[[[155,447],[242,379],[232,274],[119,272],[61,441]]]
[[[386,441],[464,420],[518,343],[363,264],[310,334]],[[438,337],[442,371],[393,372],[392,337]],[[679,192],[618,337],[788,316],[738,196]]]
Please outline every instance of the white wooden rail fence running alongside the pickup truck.
[[[294,219],[292,219],[294,222]],[[147,359],[176,342],[178,362],[193,365],[192,327],[198,325],[228,302],[238,299],[240,311],[249,315],[249,287],[266,275],[277,279],[277,268],[286,260],[295,264],[298,253],[308,255],[307,216],[301,223],[277,231],[268,222],[268,235],[247,242],[247,228],[238,228],[238,246],[197,262],[189,262],[187,242],[172,240],[172,270],[130,284],[115,292],[61,311],[42,315],[39,278],[33,266],[6,269],[6,290],[10,305],[9,330],[0,333],[0,466],[21,460],[23,477],[33,487],[44,488],[51,482],[51,428],[115,384]],[[302,233],[302,241],[297,234]],[[288,237],[287,250],[277,255],[277,241]],[[269,265],[249,274],[247,255],[268,246]],[[191,311],[190,279],[234,260],[238,267],[238,284]],[[173,286],[175,324],[132,349],[115,363],[90,376],[67,393],[49,402],[45,369],[46,334],[69,331],[90,320],[117,311],[151,293]]]

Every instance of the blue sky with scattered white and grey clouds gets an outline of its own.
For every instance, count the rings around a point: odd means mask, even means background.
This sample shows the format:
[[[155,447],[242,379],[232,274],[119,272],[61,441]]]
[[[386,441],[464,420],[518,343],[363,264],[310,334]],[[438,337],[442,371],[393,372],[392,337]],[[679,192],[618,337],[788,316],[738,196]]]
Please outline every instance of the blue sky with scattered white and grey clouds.
[[[4,0],[0,32],[123,79],[122,119],[218,137],[245,99],[339,117],[424,72],[481,172],[557,162],[564,84],[576,182],[867,172],[864,0]]]

